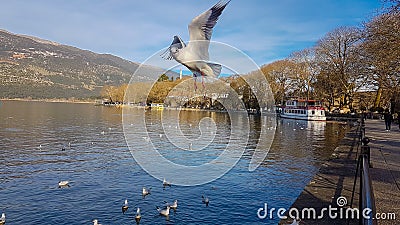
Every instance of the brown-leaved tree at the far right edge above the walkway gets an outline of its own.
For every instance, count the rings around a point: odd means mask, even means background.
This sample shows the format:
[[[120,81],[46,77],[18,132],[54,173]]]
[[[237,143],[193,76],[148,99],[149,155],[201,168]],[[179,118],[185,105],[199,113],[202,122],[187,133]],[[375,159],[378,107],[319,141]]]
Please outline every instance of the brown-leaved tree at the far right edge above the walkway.
[[[397,8],[376,16],[364,28],[365,61],[378,89],[374,107],[400,94],[400,1],[393,2]]]

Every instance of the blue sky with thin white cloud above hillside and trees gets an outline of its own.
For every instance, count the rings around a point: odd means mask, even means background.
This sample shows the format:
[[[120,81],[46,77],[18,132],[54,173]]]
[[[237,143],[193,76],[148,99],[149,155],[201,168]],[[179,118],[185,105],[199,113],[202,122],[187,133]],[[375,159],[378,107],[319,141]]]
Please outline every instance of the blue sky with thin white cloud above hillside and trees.
[[[188,40],[191,19],[217,0],[13,0],[0,7],[0,29],[143,62],[174,35]],[[258,65],[313,46],[339,26],[359,26],[380,0],[232,0],[212,40]]]

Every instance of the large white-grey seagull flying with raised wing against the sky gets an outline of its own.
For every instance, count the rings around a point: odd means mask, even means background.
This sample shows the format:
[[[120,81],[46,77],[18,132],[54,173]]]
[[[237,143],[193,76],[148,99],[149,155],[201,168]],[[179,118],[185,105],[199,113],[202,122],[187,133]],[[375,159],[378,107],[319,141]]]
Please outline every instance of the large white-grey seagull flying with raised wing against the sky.
[[[188,27],[189,43],[185,44],[180,37],[174,36],[174,40],[163,55],[165,59],[175,59],[186,66],[195,78],[201,76],[203,85],[204,76],[217,77],[221,73],[221,65],[209,62],[208,47],[213,28],[229,2],[230,0],[219,1],[211,9],[193,18]]]

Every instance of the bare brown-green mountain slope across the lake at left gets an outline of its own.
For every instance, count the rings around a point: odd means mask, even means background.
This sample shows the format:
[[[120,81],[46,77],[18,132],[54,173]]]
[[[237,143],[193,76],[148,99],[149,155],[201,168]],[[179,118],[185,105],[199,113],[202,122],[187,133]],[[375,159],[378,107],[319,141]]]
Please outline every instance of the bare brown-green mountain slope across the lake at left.
[[[139,64],[110,54],[0,30],[0,98],[88,98],[128,83]],[[161,69],[148,66],[147,75]]]

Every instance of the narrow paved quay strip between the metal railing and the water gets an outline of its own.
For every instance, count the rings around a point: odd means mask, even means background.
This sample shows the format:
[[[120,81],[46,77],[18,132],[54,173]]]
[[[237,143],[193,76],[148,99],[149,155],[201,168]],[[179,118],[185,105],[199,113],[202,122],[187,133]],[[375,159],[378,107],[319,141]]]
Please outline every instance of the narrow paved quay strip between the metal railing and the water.
[[[352,127],[339,145],[332,151],[328,160],[320,166],[318,172],[304,187],[290,209],[299,211],[312,207],[316,212],[322,212],[330,206],[338,207],[337,199],[345,197],[350,203],[354,174],[356,171],[358,154],[359,127]],[[350,205],[350,204],[349,204]],[[358,198],[355,196],[353,206],[358,205]],[[286,211],[286,216],[288,216]],[[281,219],[280,225],[290,224],[293,219]],[[301,220],[305,225],[337,224],[356,225],[358,220],[343,218],[331,219],[329,216]]]

